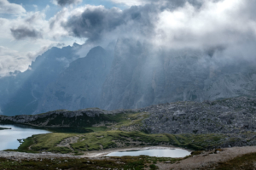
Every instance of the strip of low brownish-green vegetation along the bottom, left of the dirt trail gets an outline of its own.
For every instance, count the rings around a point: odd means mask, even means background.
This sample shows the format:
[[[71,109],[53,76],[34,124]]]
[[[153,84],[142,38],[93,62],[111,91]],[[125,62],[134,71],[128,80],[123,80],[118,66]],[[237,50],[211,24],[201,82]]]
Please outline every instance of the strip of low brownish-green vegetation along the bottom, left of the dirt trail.
[[[159,169],[155,164],[157,162],[169,161],[176,162],[181,159],[157,158],[149,156],[123,156],[102,159],[41,159],[41,160],[8,160],[0,158],[0,169],[111,169],[111,170],[142,170],[144,167],[154,170]]]

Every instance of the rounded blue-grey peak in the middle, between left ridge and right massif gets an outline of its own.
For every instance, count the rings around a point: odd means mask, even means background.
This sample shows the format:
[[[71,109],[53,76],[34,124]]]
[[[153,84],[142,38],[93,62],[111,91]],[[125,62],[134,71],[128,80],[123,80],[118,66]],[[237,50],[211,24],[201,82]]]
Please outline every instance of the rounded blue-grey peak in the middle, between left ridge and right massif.
[[[99,107],[102,84],[113,57],[101,47],[92,48],[86,57],[73,61],[45,90],[38,113],[58,109],[79,110]]]

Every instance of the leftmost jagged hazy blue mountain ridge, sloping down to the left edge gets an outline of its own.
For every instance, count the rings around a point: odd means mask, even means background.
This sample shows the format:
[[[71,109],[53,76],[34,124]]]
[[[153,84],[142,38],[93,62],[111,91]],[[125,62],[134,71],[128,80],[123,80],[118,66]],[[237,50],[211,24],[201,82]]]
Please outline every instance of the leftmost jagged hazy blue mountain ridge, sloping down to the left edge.
[[[79,58],[75,53],[77,48],[80,47],[76,44],[73,47],[51,48],[38,56],[27,71],[0,79],[3,114],[12,116],[34,113],[44,89],[55,81],[70,62]]]

